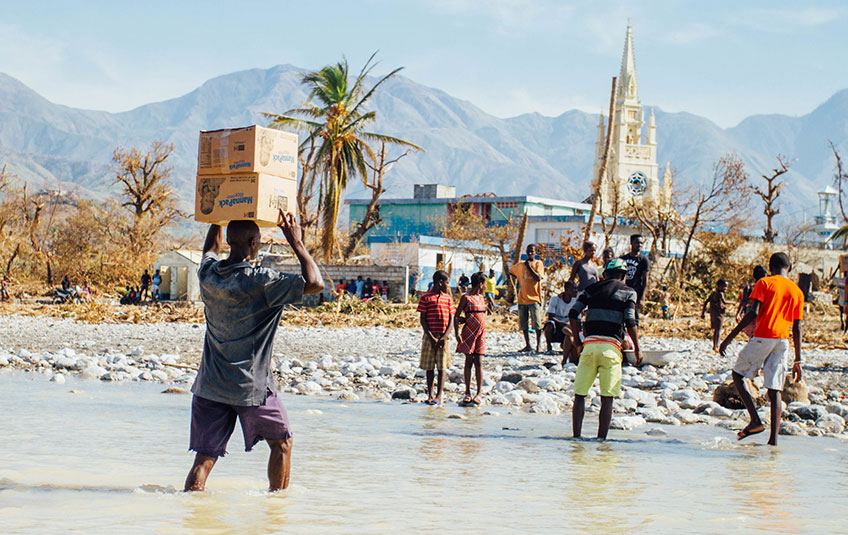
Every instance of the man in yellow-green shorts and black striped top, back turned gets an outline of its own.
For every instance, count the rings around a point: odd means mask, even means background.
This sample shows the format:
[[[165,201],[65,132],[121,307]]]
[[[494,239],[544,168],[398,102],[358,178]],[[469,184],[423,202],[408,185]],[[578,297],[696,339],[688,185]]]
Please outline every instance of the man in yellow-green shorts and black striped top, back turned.
[[[636,291],[624,284],[627,264],[620,258],[610,260],[604,268],[604,279],[587,287],[568,313],[573,343],[580,344],[580,314],[585,339],[580,351],[577,376],[574,378],[572,429],[580,438],[586,395],[598,378],[601,391],[601,413],[598,416],[598,438],[607,438],[612,420],[612,400],[621,394],[621,344],[625,329],[633,339],[636,363],[642,360],[636,328]]]

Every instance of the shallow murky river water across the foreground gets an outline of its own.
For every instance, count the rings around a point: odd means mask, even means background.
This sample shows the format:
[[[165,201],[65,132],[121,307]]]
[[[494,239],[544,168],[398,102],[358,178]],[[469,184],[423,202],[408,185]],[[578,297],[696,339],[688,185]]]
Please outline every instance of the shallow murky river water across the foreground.
[[[764,435],[648,425],[598,443],[569,439],[567,415],[294,396],[289,490],[263,491],[267,447],[245,453],[237,428],[209,491],[184,494],[190,397],[161,390],[0,374],[0,533],[848,529],[848,445],[834,439],[774,449]]]

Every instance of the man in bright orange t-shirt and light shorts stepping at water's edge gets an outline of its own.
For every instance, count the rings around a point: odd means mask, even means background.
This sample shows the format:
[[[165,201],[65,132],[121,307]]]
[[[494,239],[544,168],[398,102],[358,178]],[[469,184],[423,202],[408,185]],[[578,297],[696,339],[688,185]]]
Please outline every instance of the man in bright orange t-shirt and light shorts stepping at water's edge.
[[[792,380],[801,380],[801,320],[804,317],[804,294],[787,275],[791,270],[786,253],[775,253],[769,259],[770,277],[763,277],[754,285],[749,299],[748,312],[721,343],[722,356],[727,346],[751,322],[756,322],[754,337],[736,357],[733,365],[733,383],[745,404],[751,422],[739,433],[738,440],[765,430],[754,399],[745,387],[744,377],[753,379],[762,370],[763,386],[768,390],[771,404],[771,436],[768,443],[777,446],[780,432],[780,392],[786,380],[786,352],[789,349],[789,334],[795,346],[795,362],[792,365]]]

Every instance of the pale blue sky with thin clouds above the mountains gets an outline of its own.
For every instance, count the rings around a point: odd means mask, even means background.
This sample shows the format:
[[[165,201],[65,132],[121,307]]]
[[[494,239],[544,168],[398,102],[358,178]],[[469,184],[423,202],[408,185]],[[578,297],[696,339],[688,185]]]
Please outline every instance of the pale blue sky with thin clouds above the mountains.
[[[644,104],[721,126],[848,88],[848,3],[555,0],[35,1],[0,5],[0,72],[122,111],[220,74],[347,55],[500,117],[606,106],[633,21]]]

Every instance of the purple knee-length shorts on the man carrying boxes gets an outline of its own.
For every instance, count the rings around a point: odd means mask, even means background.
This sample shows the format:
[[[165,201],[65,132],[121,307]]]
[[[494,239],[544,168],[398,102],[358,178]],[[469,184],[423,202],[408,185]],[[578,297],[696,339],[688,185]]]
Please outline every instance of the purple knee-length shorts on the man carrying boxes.
[[[245,451],[253,449],[260,440],[286,440],[292,436],[286,408],[270,389],[265,403],[257,407],[227,405],[194,396],[189,449],[209,457],[226,455],[227,442],[236,427],[236,416],[244,434]]]

